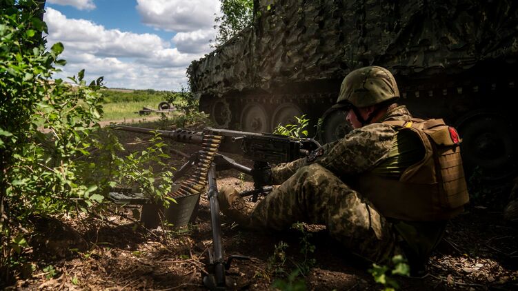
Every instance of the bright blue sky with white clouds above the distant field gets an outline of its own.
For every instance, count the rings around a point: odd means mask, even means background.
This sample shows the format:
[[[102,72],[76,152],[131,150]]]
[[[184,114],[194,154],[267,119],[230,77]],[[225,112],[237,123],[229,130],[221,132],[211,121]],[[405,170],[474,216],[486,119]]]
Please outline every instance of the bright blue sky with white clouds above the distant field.
[[[56,77],[103,76],[108,88],[179,90],[212,49],[218,0],[47,0],[48,46],[67,60]]]

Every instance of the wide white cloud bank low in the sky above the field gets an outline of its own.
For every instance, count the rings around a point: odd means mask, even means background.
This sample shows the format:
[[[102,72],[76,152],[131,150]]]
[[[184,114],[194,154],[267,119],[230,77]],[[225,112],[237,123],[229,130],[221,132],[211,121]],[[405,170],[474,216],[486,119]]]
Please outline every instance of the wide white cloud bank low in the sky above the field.
[[[48,47],[57,41],[65,46],[61,57],[68,64],[56,77],[77,75],[84,68],[88,81],[104,76],[111,88],[179,90],[187,83],[190,62],[210,51],[208,45],[206,50],[180,49],[202,43],[202,32],[181,34],[175,39],[178,48],[172,48],[156,34],[108,30],[92,21],[68,19],[52,8],[47,8],[44,20]]]

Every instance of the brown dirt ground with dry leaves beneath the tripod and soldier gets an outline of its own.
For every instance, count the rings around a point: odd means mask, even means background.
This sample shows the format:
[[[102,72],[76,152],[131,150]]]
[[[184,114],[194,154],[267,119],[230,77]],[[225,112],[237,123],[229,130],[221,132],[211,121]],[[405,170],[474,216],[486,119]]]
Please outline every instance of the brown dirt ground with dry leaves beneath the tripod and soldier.
[[[129,137],[125,142],[128,150],[143,144]],[[178,151],[199,150],[180,143],[172,143],[172,148],[171,165],[176,168],[187,161]],[[221,185],[252,187],[250,177],[234,170],[218,173]],[[221,222],[225,258],[232,254],[249,258],[232,262],[229,290],[272,290],[276,280],[287,283],[297,266],[308,272],[293,281],[301,281],[307,290],[383,289],[368,272],[372,265],[348,254],[321,225],[305,225],[303,232],[266,234],[243,230],[225,217]],[[202,277],[207,274],[212,230],[205,191],[194,223],[177,230],[143,228],[132,217],[131,207],[116,205],[103,216],[42,219],[37,226],[40,234],[32,240],[31,262],[35,272],[20,274],[10,289],[207,289]],[[518,290],[517,238],[518,225],[504,221],[499,208],[469,205],[465,214],[448,224],[446,237],[426,265],[428,274],[395,279],[401,290]],[[279,249],[286,244],[283,257]],[[308,246],[315,251],[304,257],[301,250]],[[303,290],[296,287],[283,289]]]

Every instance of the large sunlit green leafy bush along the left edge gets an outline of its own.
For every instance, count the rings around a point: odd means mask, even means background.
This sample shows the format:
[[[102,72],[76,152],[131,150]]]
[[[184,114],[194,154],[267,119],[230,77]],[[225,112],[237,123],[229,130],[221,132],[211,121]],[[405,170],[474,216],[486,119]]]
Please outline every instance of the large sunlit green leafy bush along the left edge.
[[[99,128],[102,78],[87,86],[81,71],[72,85],[52,81],[66,61],[61,43],[46,49],[39,3],[2,0],[0,11],[1,288],[26,261],[34,217],[88,208],[103,196],[84,183],[77,162]]]

